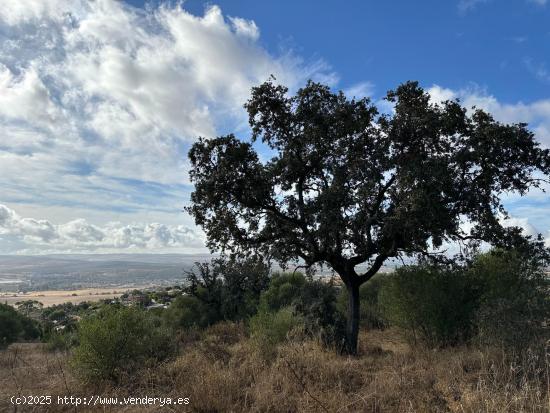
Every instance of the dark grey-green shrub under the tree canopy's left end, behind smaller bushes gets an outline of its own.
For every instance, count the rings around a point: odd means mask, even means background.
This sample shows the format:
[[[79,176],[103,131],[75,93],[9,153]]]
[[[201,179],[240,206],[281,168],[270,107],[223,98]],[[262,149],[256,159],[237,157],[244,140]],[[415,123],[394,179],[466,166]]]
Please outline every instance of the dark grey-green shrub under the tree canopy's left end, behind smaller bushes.
[[[186,291],[203,304],[206,314],[202,319],[211,325],[256,313],[260,294],[269,283],[269,266],[259,257],[222,257],[211,263],[197,263],[186,276]]]

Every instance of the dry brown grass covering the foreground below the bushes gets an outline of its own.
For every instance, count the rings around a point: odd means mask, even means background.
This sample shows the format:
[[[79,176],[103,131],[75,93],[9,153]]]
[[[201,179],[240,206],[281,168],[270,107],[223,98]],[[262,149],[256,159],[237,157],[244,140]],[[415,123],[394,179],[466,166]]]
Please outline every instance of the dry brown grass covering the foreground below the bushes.
[[[517,365],[499,352],[468,347],[410,348],[395,330],[362,332],[360,342],[359,356],[345,357],[313,341],[289,341],[266,360],[242,326],[219,325],[182,341],[176,359],[144,369],[118,388],[79,384],[67,368],[66,355],[47,353],[37,345],[12,346],[0,353],[0,411],[10,411],[6,396],[18,393],[191,400],[187,410],[127,406],[78,412],[550,411],[548,366],[535,371],[528,360]]]

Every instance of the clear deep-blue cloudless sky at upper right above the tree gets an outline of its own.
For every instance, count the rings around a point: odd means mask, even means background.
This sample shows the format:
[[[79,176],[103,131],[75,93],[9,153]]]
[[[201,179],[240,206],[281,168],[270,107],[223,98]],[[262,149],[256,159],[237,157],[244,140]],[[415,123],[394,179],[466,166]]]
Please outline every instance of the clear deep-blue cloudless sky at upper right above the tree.
[[[129,1],[143,6],[141,0]],[[187,0],[200,15],[212,2]],[[370,81],[377,93],[404,80],[452,89],[469,83],[504,102],[548,97],[550,7],[545,1],[218,1],[253,20],[270,51],[321,57],[339,86]],[[538,70],[549,70],[537,78]]]

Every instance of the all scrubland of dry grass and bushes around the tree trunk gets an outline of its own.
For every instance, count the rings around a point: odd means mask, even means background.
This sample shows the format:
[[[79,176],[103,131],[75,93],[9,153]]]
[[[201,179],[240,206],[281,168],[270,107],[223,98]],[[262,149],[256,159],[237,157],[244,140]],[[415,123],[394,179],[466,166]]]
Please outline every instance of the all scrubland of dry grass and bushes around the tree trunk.
[[[0,407],[5,396],[32,393],[189,397],[182,409],[196,412],[548,411],[541,264],[495,250],[461,267],[379,274],[361,288],[356,356],[343,354],[345,289],[270,274],[254,259],[197,266],[187,294],[166,309],[82,305],[59,331],[23,314],[58,317],[51,309],[2,307],[0,316],[15,314],[48,344],[0,353]],[[3,332],[4,343],[32,341],[27,330]]]

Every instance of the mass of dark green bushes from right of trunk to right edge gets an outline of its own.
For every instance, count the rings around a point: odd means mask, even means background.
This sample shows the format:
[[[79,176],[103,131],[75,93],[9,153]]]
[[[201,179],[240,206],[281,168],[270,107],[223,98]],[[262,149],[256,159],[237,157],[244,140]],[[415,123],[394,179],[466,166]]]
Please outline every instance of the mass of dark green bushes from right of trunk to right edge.
[[[470,339],[515,353],[550,339],[544,250],[492,250],[463,268],[400,268],[380,292],[384,315],[431,346]]]

